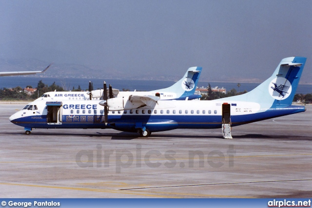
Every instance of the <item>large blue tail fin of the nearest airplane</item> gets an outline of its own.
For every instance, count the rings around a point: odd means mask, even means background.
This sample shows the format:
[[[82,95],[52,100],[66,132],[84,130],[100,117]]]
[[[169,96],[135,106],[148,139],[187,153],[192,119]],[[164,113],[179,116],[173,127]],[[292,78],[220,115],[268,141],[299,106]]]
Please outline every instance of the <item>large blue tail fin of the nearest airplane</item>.
[[[282,59],[273,75],[254,90],[244,95],[229,97],[227,100],[257,102],[268,108],[292,105],[306,60],[306,57]]]

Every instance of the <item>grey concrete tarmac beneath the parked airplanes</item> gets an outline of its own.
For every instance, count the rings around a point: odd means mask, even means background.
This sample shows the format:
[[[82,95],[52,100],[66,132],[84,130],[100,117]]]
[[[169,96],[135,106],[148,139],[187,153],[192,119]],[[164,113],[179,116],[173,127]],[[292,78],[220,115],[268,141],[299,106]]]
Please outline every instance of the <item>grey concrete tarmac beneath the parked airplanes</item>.
[[[232,129],[33,129],[0,104],[2,198],[311,198],[312,106]]]

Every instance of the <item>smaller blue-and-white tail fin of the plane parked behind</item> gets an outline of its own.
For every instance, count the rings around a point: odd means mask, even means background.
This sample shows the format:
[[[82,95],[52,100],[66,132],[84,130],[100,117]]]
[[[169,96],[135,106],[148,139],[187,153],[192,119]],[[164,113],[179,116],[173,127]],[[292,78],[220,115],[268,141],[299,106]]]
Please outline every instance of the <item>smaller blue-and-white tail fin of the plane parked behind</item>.
[[[177,95],[176,98],[177,100],[185,100],[187,98],[192,99],[199,98],[201,97],[201,95],[194,95],[194,93],[196,90],[201,70],[202,67],[191,67],[186,71],[185,75],[174,85],[156,91],[175,92]]]

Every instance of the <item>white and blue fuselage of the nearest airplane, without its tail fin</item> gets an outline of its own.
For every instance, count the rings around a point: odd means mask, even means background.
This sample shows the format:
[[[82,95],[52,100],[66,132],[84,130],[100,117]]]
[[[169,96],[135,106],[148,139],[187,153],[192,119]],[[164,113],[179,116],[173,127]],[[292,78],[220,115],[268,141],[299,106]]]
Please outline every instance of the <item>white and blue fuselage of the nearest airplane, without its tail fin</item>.
[[[54,106],[43,101],[29,103],[10,117],[12,123],[25,128],[43,129],[116,129],[136,132],[146,127],[151,132],[173,129],[216,129],[222,126],[222,105],[230,105],[232,126],[305,111],[302,106],[260,108],[258,103],[212,100],[158,101],[154,108],[144,107],[127,111],[109,111],[107,125],[104,107],[98,100],[62,100]],[[53,104],[53,103],[52,103]],[[49,109],[50,108],[50,109]],[[49,112],[50,113],[49,113]]]

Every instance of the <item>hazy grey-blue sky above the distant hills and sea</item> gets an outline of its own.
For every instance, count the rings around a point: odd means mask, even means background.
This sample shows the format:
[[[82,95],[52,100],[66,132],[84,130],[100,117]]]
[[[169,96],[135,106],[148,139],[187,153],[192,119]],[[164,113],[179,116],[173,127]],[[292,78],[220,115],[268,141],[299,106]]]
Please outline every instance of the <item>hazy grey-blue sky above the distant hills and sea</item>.
[[[312,83],[311,21],[311,0],[0,0],[0,58],[138,79],[201,66],[202,80],[263,81],[282,58],[302,56],[305,84]]]

